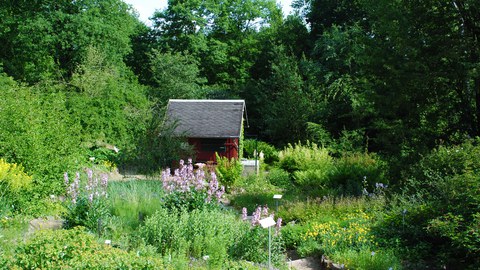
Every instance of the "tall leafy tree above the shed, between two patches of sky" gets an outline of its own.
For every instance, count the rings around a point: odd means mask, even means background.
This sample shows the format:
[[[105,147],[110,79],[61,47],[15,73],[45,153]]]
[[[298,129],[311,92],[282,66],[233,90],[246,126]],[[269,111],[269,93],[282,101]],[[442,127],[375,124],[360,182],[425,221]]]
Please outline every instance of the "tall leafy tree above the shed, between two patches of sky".
[[[170,0],[155,13],[154,25],[165,50],[188,51],[210,85],[231,87],[248,78],[258,55],[258,30],[281,18],[274,0]]]

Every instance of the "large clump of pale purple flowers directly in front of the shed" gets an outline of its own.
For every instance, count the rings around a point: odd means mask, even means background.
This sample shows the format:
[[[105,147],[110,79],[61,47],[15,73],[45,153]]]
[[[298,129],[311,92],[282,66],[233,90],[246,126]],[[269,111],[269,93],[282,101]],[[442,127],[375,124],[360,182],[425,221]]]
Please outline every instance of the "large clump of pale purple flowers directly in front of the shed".
[[[180,166],[173,175],[169,168],[162,171],[165,207],[185,208],[187,210],[212,207],[218,204],[225,187],[219,186],[217,176],[211,172],[209,177],[204,170],[194,170],[192,160],[187,164],[180,160]]]

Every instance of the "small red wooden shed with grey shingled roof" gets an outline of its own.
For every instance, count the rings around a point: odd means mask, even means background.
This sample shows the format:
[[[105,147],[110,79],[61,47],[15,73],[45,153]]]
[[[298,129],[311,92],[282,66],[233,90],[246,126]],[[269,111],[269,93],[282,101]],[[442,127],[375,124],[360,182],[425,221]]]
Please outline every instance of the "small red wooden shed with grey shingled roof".
[[[220,156],[238,158],[244,100],[171,99],[167,120],[178,121],[175,134],[186,135],[196,152],[196,162],[216,161]]]

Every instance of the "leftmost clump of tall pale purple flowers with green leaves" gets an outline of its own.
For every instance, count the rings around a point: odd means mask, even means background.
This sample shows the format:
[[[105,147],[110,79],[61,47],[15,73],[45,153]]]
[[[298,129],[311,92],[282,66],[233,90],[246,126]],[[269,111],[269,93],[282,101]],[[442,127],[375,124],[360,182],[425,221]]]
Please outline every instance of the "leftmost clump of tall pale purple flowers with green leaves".
[[[101,174],[99,177],[91,169],[86,170],[86,175],[85,188],[82,188],[79,172],[75,173],[71,182],[68,173],[63,175],[67,191],[65,227],[85,226],[101,233],[102,221],[108,217],[105,200],[108,197],[108,175]]]

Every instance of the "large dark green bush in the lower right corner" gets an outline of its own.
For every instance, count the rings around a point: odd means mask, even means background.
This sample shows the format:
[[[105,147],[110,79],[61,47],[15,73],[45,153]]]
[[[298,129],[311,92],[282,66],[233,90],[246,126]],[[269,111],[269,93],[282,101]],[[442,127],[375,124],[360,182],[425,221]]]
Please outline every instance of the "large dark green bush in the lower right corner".
[[[480,146],[440,146],[416,164],[378,227],[434,267],[480,266]],[[433,260],[432,260],[433,259]]]

